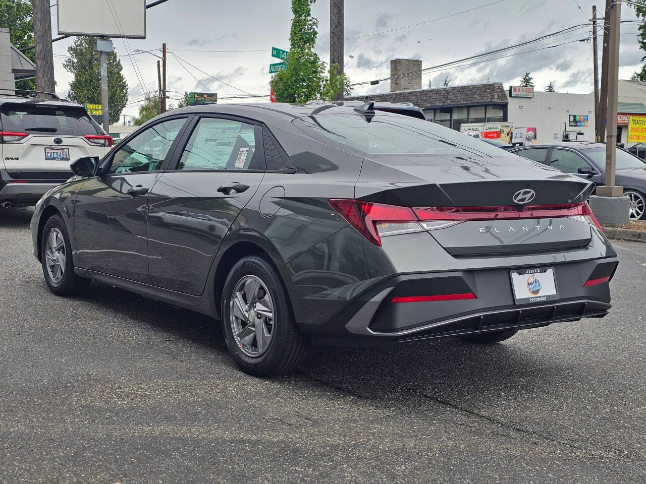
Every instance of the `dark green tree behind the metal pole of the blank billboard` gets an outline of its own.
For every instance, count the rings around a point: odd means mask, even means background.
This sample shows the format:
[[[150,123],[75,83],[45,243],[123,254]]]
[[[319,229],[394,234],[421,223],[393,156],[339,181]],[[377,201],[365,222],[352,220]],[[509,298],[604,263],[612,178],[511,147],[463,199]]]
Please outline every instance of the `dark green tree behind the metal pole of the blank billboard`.
[[[79,104],[101,103],[101,71],[98,52],[92,48],[92,37],[76,37],[67,48],[70,54],[63,67],[74,79],[67,96]],[[121,61],[114,52],[108,54],[108,99],[110,123],[119,121],[121,111],[128,102],[128,83],[121,71]]]

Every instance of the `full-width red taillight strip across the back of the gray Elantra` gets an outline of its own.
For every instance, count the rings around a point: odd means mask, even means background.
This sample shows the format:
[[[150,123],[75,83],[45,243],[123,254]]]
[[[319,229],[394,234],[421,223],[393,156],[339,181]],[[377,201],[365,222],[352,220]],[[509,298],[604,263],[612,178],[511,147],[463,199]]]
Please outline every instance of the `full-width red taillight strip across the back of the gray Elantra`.
[[[381,238],[396,234],[439,230],[458,223],[478,220],[553,219],[570,217],[601,229],[587,202],[563,205],[529,205],[521,210],[514,205],[501,207],[399,207],[361,200],[331,199],[352,227],[371,243],[381,245]]]

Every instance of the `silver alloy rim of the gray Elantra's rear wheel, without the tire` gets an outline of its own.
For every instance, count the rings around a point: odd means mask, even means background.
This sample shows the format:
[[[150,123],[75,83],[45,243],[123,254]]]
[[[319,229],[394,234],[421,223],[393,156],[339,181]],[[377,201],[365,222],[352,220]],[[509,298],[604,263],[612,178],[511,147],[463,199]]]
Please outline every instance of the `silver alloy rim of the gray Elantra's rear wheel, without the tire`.
[[[267,351],[274,334],[274,304],[267,286],[256,276],[244,276],[231,295],[231,330],[236,346],[247,356]]]

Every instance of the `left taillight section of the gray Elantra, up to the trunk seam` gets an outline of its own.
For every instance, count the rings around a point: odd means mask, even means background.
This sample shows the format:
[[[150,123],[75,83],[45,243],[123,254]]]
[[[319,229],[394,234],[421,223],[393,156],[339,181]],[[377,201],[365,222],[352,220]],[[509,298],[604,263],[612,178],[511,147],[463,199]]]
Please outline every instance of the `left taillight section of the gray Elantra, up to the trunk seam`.
[[[408,207],[339,199],[330,200],[329,205],[375,245],[381,245],[380,236],[423,230],[417,216]]]

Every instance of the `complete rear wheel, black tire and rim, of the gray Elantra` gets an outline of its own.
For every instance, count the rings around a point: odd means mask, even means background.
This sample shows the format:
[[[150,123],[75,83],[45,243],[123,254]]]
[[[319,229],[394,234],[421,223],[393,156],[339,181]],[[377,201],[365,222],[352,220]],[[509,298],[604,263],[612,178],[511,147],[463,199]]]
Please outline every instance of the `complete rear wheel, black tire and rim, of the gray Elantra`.
[[[264,257],[246,256],[231,268],[220,314],[229,353],[245,373],[288,373],[306,354],[306,339],[296,325],[285,285]]]

